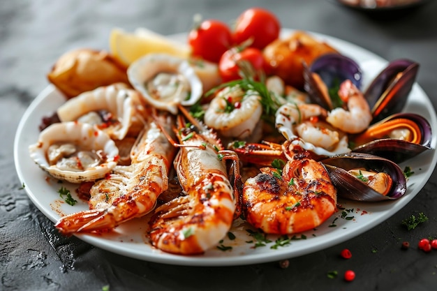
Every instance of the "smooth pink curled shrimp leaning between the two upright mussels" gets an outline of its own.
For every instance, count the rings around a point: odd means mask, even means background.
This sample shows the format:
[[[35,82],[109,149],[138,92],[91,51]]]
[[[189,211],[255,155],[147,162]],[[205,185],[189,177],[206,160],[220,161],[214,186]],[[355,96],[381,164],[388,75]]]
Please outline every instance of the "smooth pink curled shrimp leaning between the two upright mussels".
[[[369,103],[352,81],[340,84],[339,96],[347,102],[348,110],[341,107],[328,113],[326,121],[346,133],[360,133],[369,127],[373,117]]]

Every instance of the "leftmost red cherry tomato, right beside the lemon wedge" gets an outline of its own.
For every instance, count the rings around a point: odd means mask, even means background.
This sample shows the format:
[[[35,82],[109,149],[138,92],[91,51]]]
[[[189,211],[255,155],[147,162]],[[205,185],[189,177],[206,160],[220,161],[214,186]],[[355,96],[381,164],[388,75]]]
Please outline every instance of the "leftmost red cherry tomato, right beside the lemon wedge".
[[[188,33],[193,56],[218,63],[221,55],[232,47],[228,25],[218,20],[205,20]]]

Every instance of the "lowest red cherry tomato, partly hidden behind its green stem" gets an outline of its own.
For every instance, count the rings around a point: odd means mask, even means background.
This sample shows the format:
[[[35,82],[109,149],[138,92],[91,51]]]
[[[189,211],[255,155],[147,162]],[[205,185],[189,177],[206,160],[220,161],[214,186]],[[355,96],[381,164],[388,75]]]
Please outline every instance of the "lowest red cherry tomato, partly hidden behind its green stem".
[[[218,71],[223,82],[242,78],[239,73],[244,66],[243,61],[249,61],[255,73],[258,73],[259,70],[264,70],[266,75],[269,73],[269,65],[260,50],[255,47],[247,47],[239,51],[237,47],[234,47],[227,50],[218,62]]]

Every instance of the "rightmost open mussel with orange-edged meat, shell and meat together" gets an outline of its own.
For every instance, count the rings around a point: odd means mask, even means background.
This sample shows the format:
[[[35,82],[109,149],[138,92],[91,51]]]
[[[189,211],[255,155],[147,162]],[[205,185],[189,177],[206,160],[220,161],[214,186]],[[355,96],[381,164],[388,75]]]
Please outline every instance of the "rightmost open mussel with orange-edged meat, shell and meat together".
[[[392,114],[361,133],[350,137],[353,151],[388,158],[394,163],[413,158],[431,146],[431,126],[414,113]]]

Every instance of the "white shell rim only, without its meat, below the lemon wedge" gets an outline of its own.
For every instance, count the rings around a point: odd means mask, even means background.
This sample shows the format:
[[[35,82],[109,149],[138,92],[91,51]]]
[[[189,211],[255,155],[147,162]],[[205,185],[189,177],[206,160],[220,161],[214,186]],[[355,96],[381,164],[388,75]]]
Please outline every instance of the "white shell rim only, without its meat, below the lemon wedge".
[[[203,85],[200,78],[195,73],[194,68],[186,59],[171,56],[170,54],[147,54],[134,61],[128,67],[128,79],[134,89],[139,91],[146,102],[154,107],[166,110],[172,114],[177,114],[178,105],[194,105],[203,94]],[[158,73],[175,73],[183,75],[190,84],[189,98],[179,100],[179,98],[153,98],[145,87],[145,83],[152,80]]]

